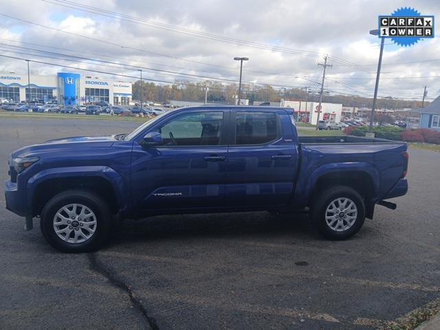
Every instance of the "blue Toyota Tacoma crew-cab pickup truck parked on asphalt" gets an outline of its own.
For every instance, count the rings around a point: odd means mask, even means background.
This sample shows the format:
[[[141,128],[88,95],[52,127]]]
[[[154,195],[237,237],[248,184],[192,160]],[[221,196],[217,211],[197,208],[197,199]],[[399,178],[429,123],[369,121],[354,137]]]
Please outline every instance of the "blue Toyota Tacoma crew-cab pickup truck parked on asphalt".
[[[157,214],[306,211],[329,239],[347,239],[376,204],[408,190],[406,144],[298,137],[292,109],[190,107],[129,134],[69,137],[10,155],[6,208],[40,218],[65,252],[96,250],[115,219]],[[117,217],[118,216],[118,217]]]

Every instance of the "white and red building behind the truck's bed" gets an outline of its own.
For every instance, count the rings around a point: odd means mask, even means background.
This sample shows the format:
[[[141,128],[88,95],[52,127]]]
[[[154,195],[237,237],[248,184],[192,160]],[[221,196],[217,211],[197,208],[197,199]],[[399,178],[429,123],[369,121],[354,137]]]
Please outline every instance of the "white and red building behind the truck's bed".
[[[293,108],[296,113],[298,122],[308,122],[309,124],[316,124],[318,120],[318,105],[319,102],[305,102],[305,101],[284,101],[283,106]],[[322,110],[319,119],[328,122],[340,122],[342,115],[342,104],[340,103],[325,103],[321,104]]]

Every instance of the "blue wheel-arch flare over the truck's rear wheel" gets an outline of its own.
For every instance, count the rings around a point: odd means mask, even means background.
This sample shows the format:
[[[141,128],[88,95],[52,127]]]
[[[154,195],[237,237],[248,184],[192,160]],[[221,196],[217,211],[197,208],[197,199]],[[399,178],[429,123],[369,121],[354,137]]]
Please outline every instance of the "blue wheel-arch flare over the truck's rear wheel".
[[[302,201],[303,203],[307,203],[307,201],[309,201],[309,198],[311,197],[311,194],[318,179],[329,173],[338,172],[360,172],[368,174],[371,177],[371,181],[373,181],[373,196],[376,197],[378,195],[380,174],[377,168],[367,162],[338,162],[318,166],[314,170],[311,170],[309,175],[303,175],[303,179],[298,179],[298,188],[296,192],[297,196],[300,198],[297,200]]]

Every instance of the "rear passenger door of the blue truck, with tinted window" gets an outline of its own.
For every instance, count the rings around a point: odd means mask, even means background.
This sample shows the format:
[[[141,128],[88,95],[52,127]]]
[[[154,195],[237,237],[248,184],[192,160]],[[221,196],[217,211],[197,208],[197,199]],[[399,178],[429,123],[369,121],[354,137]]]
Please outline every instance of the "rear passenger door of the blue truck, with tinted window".
[[[285,111],[232,109],[226,206],[285,205],[298,164],[292,122]]]

